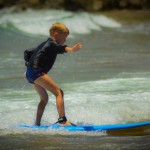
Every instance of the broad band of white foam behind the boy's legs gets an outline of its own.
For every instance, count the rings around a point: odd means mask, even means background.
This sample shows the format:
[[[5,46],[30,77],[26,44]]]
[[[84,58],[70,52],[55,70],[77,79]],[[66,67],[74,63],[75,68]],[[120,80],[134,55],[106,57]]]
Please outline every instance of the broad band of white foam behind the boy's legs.
[[[148,121],[150,116],[150,79],[115,78],[62,84],[66,114],[76,124],[117,124]],[[0,129],[17,123],[34,123],[38,95],[31,89],[0,91]],[[55,97],[49,94],[42,124],[57,118]]]

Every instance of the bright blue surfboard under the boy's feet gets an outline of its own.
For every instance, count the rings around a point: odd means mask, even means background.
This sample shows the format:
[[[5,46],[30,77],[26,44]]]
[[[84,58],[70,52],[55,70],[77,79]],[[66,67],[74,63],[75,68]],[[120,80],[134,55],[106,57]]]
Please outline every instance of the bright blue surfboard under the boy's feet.
[[[65,131],[85,131],[85,132],[97,132],[97,131],[118,131],[134,129],[139,127],[150,127],[150,122],[138,122],[138,123],[127,123],[127,124],[109,124],[109,125],[77,125],[77,126],[60,126],[59,124],[32,126],[26,124],[19,124],[21,128],[29,129],[54,129],[54,130],[65,130]],[[146,128],[147,129],[147,128]]]

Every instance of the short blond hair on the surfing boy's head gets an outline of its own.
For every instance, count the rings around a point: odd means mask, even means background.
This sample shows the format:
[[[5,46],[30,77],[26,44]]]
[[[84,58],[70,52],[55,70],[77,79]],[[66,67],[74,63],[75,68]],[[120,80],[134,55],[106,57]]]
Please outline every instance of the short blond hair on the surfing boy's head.
[[[51,36],[53,36],[54,32],[69,34],[69,29],[63,23],[56,22],[52,24],[51,28],[49,29],[49,33]]]

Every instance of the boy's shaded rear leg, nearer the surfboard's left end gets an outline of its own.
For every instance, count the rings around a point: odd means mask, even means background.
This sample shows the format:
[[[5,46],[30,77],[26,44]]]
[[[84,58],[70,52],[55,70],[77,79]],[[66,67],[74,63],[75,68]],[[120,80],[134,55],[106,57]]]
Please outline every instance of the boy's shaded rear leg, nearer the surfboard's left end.
[[[37,108],[36,121],[35,121],[35,125],[39,126],[45,106],[48,102],[48,94],[47,94],[46,90],[44,88],[42,88],[41,86],[39,86],[37,84],[33,84],[32,86],[40,96],[40,102],[39,102],[39,105]]]

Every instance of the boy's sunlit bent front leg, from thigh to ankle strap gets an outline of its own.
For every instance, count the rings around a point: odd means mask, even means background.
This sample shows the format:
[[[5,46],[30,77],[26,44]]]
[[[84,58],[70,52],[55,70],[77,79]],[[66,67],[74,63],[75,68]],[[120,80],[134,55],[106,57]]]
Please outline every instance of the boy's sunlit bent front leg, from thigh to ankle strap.
[[[57,86],[57,84],[48,75],[43,75],[35,80],[35,83],[43,87],[44,89],[52,92],[56,97],[56,105],[59,117],[65,116],[63,92]]]

